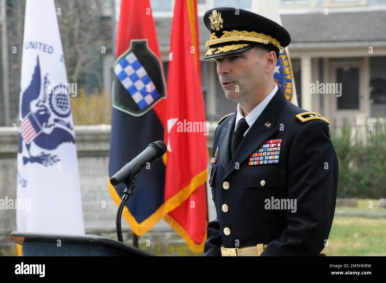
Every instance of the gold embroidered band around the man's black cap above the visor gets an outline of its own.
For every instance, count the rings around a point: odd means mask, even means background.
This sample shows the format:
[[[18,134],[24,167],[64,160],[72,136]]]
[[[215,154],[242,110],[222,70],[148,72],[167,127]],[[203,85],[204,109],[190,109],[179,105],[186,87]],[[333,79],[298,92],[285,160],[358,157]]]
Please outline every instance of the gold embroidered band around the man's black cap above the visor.
[[[271,43],[274,46],[278,47],[280,50],[280,42],[274,39],[271,36],[267,36],[262,33],[254,32],[254,31],[223,31],[223,35],[221,38],[217,38],[215,33],[213,32],[210,35],[210,40],[205,42],[205,46],[209,47],[214,44],[230,42],[230,41],[253,41],[259,42],[263,44]]]

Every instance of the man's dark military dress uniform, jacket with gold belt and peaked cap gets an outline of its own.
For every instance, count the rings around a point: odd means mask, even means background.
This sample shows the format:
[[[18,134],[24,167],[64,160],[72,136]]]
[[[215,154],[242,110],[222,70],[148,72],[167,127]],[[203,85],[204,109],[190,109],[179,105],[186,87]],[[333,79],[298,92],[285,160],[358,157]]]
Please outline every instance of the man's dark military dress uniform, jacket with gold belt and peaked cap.
[[[243,25],[232,21],[234,8],[214,10],[216,13],[210,10],[204,16],[208,29],[214,20],[208,23],[205,17],[212,15],[217,17],[215,32],[221,25],[225,29],[226,20],[230,27],[225,31],[237,32],[237,25]],[[251,29],[262,27],[257,34],[279,31],[271,38],[289,43],[282,27],[242,11],[245,21],[255,23]],[[245,42],[241,44],[252,45],[253,41]],[[215,43],[217,50],[225,50]],[[277,46],[271,44],[269,48]],[[207,56],[215,55],[211,52]],[[338,160],[328,121],[295,106],[278,88],[254,123],[244,129],[245,136],[232,155],[235,129],[242,128],[236,127],[236,117],[236,112],[223,117],[214,134],[209,185],[217,217],[208,223],[204,256],[325,256],[338,181]],[[276,200],[296,200],[296,210],[275,207]]]

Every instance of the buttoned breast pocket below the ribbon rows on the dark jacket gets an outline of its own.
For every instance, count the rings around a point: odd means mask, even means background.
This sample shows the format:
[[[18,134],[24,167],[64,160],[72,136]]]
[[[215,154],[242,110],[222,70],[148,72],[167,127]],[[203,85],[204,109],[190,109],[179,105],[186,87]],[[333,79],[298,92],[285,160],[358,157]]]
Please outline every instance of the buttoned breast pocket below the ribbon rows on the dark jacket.
[[[286,170],[284,165],[251,166],[244,170],[244,193],[247,219],[253,224],[278,221],[279,215],[272,202],[286,196]],[[268,209],[269,208],[269,209]]]

